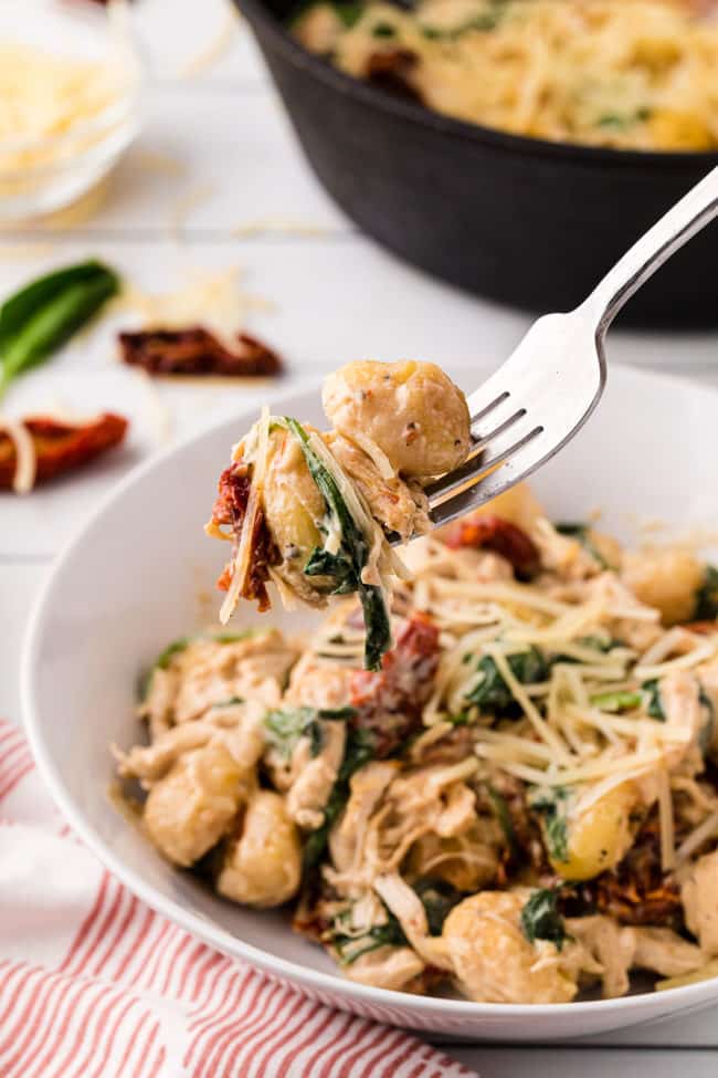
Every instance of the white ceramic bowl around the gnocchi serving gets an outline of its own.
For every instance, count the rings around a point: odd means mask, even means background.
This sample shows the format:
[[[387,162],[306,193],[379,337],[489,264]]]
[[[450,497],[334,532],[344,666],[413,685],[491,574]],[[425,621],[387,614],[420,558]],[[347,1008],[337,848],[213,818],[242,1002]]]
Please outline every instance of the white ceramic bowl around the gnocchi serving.
[[[274,411],[321,422],[317,390],[282,399]],[[717,417],[718,395],[704,387],[613,368],[595,416],[535,486],[551,515],[581,519],[602,506],[605,523],[619,533],[638,513],[712,525]],[[204,537],[202,524],[230,446],[251,418],[240,416],[133,472],[65,551],[36,605],[22,670],[25,720],[42,775],[82,839],[131,891],[207,943],[314,998],[395,1025],[539,1040],[629,1026],[718,999],[718,978],[622,999],[532,1007],[352,984],[319,948],[292,933],[285,913],[254,912],[213,897],[163,861],[114,807],[108,745],[126,746],[135,737],[138,674],[169,640],[207,624],[208,599],[209,610],[218,609],[212,582],[225,551]]]

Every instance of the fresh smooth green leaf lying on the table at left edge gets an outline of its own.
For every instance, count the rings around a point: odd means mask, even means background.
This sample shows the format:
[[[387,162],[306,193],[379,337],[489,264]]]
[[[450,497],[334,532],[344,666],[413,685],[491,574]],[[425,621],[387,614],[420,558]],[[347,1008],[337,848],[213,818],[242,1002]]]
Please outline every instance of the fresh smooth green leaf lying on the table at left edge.
[[[114,271],[84,262],[40,278],[0,307],[0,396],[47,359],[119,290]]]

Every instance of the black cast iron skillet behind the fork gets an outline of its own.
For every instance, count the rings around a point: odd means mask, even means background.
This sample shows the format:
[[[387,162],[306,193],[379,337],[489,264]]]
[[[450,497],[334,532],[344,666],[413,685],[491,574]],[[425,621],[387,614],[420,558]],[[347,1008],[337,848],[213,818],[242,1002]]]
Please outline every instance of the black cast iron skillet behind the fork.
[[[236,0],[304,151],[346,213],[409,262],[535,311],[576,306],[718,153],[558,145],[465,124],[350,79],[284,29],[295,0]],[[641,290],[643,325],[718,325],[718,221]]]

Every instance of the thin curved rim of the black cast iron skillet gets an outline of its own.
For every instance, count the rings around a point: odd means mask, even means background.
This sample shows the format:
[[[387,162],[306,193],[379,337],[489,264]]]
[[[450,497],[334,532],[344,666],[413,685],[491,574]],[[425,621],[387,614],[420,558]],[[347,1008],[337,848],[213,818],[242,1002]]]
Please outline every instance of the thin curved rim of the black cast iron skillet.
[[[624,166],[647,168],[674,168],[678,171],[693,167],[706,170],[718,164],[715,150],[640,150],[615,149],[606,146],[587,146],[582,143],[559,143],[527,135],[515,135],[482,124],[469,124],[427,108],[411,98],[394,96],[360,79],[345,74],[320,56],[300,45],[279,19],[268,10],[265,0],[232,0],[240,12],[262,25],[284,57],[295,67],[305,69],[319,82],[345,97],[353,97],[379,112],[390,113],[419,127],[430,128],[463,142],[488,144],[495,149],[522,153],[532,157],[559,158],[576,165],[600,165],[613,168]]]

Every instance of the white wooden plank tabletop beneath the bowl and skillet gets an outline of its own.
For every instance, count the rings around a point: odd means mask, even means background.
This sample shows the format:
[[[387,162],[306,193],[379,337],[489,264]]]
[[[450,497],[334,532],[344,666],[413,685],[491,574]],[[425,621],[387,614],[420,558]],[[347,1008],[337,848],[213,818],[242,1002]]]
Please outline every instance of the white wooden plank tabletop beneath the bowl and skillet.
[[[506,356],[526,315],[398,262],[359,236],[325,196],[246,27],[230,28],[224,0],[139,0],[137,19],[152,72],[144,133],[110,180],[78,208],[0,231],[0,295],[50,265],[89,254],[150,291],[176,287],[196,266],[240,266],[246,291],[273,304],[252,314],[250,331],[288,360],[274,393],[317,381],[351,358],[406,356],[441,364],[471,389]],[[214,63],[200,64],[188,79],[187,69],[223,40]],[[7,401],[18,415],[60,401],[87,412],[114,408],[133,421],[126,448],[92,474],[24,500],[0,500],[0,714],[18,722],[18,663],[35,592],[96,498],[160,440],[141,380],[115,359],[113,328],[76,342],[18,383]],[[716,335],[615,333],[609,355],[718,381]],[[266,397],[256,387],[169,386],[159,393],[172,437]],[[450,1050],[486,1078],[610,1071],[708,1078],[718,1066],[718,1008],[550,1048]]]

